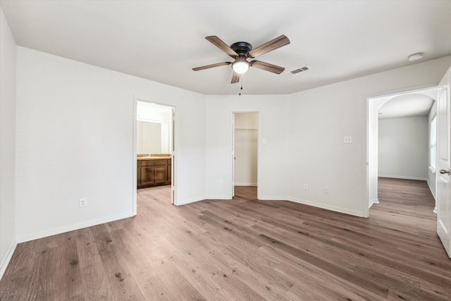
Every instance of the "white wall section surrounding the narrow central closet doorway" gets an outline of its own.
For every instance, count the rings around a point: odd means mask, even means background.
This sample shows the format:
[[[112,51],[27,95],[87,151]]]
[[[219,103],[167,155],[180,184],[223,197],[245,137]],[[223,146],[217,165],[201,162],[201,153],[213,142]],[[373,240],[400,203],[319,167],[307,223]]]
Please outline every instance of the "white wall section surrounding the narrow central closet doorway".
[[[206,195],[230,199],[232,195],[232,114],[259,112],[259,199],[287,199],[285,170],[288,156],[288,95],[206,96]],[[283,171],[283,172],[280,172]],[[222,180],[224,185],[219,185]]]

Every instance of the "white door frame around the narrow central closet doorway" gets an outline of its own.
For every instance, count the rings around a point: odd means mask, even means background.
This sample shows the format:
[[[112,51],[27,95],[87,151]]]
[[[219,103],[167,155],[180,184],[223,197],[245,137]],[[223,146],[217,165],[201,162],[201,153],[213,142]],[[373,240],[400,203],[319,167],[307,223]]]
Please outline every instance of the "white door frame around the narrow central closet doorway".
[[[259,128],[257,133],[257,199],[260,198],[260,179],[261,179],[261,111],[258,109],[252,110],[252,109],[232,109],[230,111],[230,178],[228,180],[229,184],[229,198],[233,199],[233,196],[235,195],[235,160],[234,160],[234,147],[235,147],[235,113],[258,113],[259,115]]]

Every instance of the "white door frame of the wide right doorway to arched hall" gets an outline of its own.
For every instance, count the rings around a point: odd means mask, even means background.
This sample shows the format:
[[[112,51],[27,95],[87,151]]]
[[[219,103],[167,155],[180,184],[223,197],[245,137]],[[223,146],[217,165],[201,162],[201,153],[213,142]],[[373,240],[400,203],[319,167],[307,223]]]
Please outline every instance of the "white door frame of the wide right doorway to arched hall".
[[[364,96],[364,116],[366,117],[366,127],[364,128],[364,178],[366,179],[366,189],[364,190],[364,196],[362,197],[362,216],[369,217],[369,208],[372,204],[378,203],[378,108],[385,102],[388,102],[393,97],[397,97],[401,94],[409,93],[421,93],[428,90],[435,90],[435,94],[427,94],[434,100],[437,99],[436,92],[443,87],[437,84],[421,85],[416,87],[409,87],[401,90],[381,92],[378,94],[371,94]],[[437,185],[437,181],[435,181]],[[436,204],[436,203],[435,203]]]

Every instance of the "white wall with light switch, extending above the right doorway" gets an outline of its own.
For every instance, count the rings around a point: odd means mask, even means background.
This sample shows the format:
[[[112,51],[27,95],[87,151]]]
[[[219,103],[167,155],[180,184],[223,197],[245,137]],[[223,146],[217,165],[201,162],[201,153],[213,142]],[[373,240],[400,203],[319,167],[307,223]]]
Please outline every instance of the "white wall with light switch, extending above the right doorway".
[[[290,199],[365,216],[366,99],[437,85],[449,66],[451,56],[290,95],[285,116],[290,120],[287,159],[292,164],[285,169]],[[352,144],[343,144],[343,136],[352,136]]]

